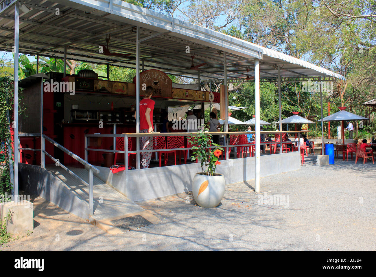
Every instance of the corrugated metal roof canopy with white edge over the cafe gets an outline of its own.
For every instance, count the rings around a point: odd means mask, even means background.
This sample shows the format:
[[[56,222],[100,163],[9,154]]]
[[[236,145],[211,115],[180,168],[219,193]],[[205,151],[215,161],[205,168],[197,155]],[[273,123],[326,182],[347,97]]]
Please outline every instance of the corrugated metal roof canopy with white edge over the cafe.
[[[0,50],[12,51],[14,45],[14,3],[0,3]],[[25,4],[30,10],[23,7]],[[198,78],[199,71],[189,69],[191,54],[200,67],[202,80],[223,80],[223,51],[226,52],[227,78],[242,80],[246,69],[253,73],[259,59],[260,78],[282,80],[307,77],[334,77],[337,73],[257,44],[240,40],[176,18],[168,17],[120,0],[26,0],[20,9],[19,52],[96,64],[136,68],[136,32],[140,28],[140,60],[144,69],[159,69],[171,75]],[[60,15],[55,15],[59,9]],[[25,10],[25,11],[23,11]],[[113,53],[134,54],[113,57],[99,53],[106,45]],[[186,53],[187,46],[190,53]]]

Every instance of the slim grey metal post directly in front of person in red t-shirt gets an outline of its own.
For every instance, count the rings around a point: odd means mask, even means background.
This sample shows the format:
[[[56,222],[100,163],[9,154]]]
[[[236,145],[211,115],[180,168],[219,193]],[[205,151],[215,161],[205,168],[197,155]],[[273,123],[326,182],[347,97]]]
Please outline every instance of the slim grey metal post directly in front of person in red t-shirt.
[[[140,43],[139,26],[136,27],[136,133],[140,132]],[[136,150],[140,149],[139,138],[136,137]],[[125,165],[127,166],[127,165]],[[136,169],[140,168],[140,155],[136,155]]]

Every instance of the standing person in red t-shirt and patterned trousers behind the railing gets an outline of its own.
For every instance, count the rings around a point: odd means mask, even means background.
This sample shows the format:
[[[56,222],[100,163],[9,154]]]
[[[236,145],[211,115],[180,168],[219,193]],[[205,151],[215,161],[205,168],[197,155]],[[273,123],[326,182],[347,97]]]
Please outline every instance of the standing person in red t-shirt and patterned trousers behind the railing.
[[[150,99],[153,95],[153,92],[153,87],[147,87],[145,92],[145,98],[140,101],[140,133],[153,132],[153,109],[155,102],[152,99]],[[136,113],[134,117],[136,117]],[[140,137],[140,146],[142,150],[150,150],[150,152],[141,153],[142,168],[148,168],[150,160],[152,159],[153,137]]]

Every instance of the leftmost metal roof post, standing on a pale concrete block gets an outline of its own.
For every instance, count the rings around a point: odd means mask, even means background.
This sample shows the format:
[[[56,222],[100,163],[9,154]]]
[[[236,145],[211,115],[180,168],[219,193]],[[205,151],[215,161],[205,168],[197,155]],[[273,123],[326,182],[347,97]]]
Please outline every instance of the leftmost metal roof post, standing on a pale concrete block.
[[[14,201],[18,202],[18,39],[20,28],[19,2],[14,5]]]

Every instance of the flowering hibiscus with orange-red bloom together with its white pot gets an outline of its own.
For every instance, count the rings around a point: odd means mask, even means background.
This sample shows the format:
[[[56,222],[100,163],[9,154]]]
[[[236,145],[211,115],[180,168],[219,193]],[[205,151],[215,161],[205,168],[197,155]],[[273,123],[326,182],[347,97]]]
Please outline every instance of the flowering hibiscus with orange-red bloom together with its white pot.
[[[217,207],[221,202],[226,182],[222,174],[215,173],[219,156],[222,154],[223,148],[213,143],[212,136],[205,132],[199,132],[188,140],[192,144],[192,160],[196,159],[201,162],[201,171],[195,174],[192,181],[192,193],[197,205],[203,208]],[[210,146],[217,148],[209,149]]]

